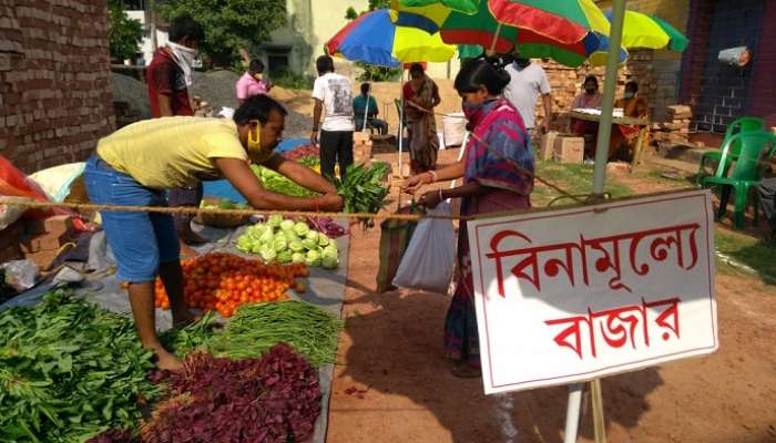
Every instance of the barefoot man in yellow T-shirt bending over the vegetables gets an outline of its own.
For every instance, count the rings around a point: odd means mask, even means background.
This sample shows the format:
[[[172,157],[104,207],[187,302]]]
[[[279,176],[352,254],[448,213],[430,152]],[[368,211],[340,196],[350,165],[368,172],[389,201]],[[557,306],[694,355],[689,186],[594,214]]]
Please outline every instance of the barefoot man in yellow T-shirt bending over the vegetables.
[[[239,106],[234,121],[166,117],[139,122],[102,138],[86,162],[84,179],[93,203],[165,206],[164,190],[225,177],[256,209],[340,210],[337,189],[309,168],[275,154],[283,140],[286,110],[267,95]],[[262,187],[248,161],[285,175],[320,194],[289,197]],[[193,319],[183,299],[180,244],[166,214],[103,212],[108,243],[120,281],[129,284],[130,303],[141,342],[152,349],[159,368],[181,362],[165,350],[155,331],[154,280],[159,275],[170,297],[173,322]]]

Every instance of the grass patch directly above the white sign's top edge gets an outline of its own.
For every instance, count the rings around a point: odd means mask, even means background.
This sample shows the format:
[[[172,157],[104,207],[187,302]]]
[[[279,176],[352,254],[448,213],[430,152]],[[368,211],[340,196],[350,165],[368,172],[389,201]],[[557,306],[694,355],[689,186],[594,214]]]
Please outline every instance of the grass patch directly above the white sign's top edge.
[[[558,185],[572,195],[588,195],[593,190],[593,166],[537,161],[537,176]],[[537,185],[531,194],[531,200],[535,206],[547,206],[554,198],[561,196],[554,189],[539,183]],[[604,192],[610,193],[614,198],[633,195],[630,187],[611,179],[606,182]]]

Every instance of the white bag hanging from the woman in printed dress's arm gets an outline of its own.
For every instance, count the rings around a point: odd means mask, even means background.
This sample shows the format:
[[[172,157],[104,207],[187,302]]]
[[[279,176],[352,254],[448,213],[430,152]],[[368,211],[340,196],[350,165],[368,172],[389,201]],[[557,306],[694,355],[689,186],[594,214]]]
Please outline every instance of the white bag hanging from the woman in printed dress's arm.
[[[441,203],[428,214],[450,215]],[[396,271],[394,285],[447,293],[456,264],[456,230],[451,219],[426,218],[415,229],[407,253]]]

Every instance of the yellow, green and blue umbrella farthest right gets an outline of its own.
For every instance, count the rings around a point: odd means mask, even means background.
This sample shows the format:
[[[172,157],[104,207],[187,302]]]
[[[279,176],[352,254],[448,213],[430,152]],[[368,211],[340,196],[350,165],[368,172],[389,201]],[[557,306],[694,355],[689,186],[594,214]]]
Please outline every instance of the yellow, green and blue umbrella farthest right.
[[[612,11],[605,12],[609,19]],[[690,40],[665,20],[636,11],[625,11],[622,45],[627,49],[667,49],[684,51]]]

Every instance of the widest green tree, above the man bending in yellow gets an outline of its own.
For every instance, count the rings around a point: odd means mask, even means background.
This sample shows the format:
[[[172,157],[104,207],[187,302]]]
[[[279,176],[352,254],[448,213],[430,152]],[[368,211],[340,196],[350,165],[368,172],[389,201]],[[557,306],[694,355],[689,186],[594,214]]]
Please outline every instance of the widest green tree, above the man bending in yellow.
[[[159,7],[167,20],[188,13],[205,29],[202,50],[215,65],[231,66],[239,48],[267,41],[286,24],[286,0],[167,0]]]

